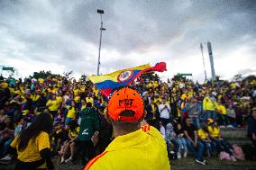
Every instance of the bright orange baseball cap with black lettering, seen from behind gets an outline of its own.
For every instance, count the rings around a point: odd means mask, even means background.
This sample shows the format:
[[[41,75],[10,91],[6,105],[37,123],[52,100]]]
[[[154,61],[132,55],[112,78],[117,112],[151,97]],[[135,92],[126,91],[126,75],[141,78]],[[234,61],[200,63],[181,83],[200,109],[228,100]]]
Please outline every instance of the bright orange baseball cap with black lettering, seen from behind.
[[[142,97],[130,86],[120,87],[111,94],[107,111],[114,121],[140,120],[144,112]]]

